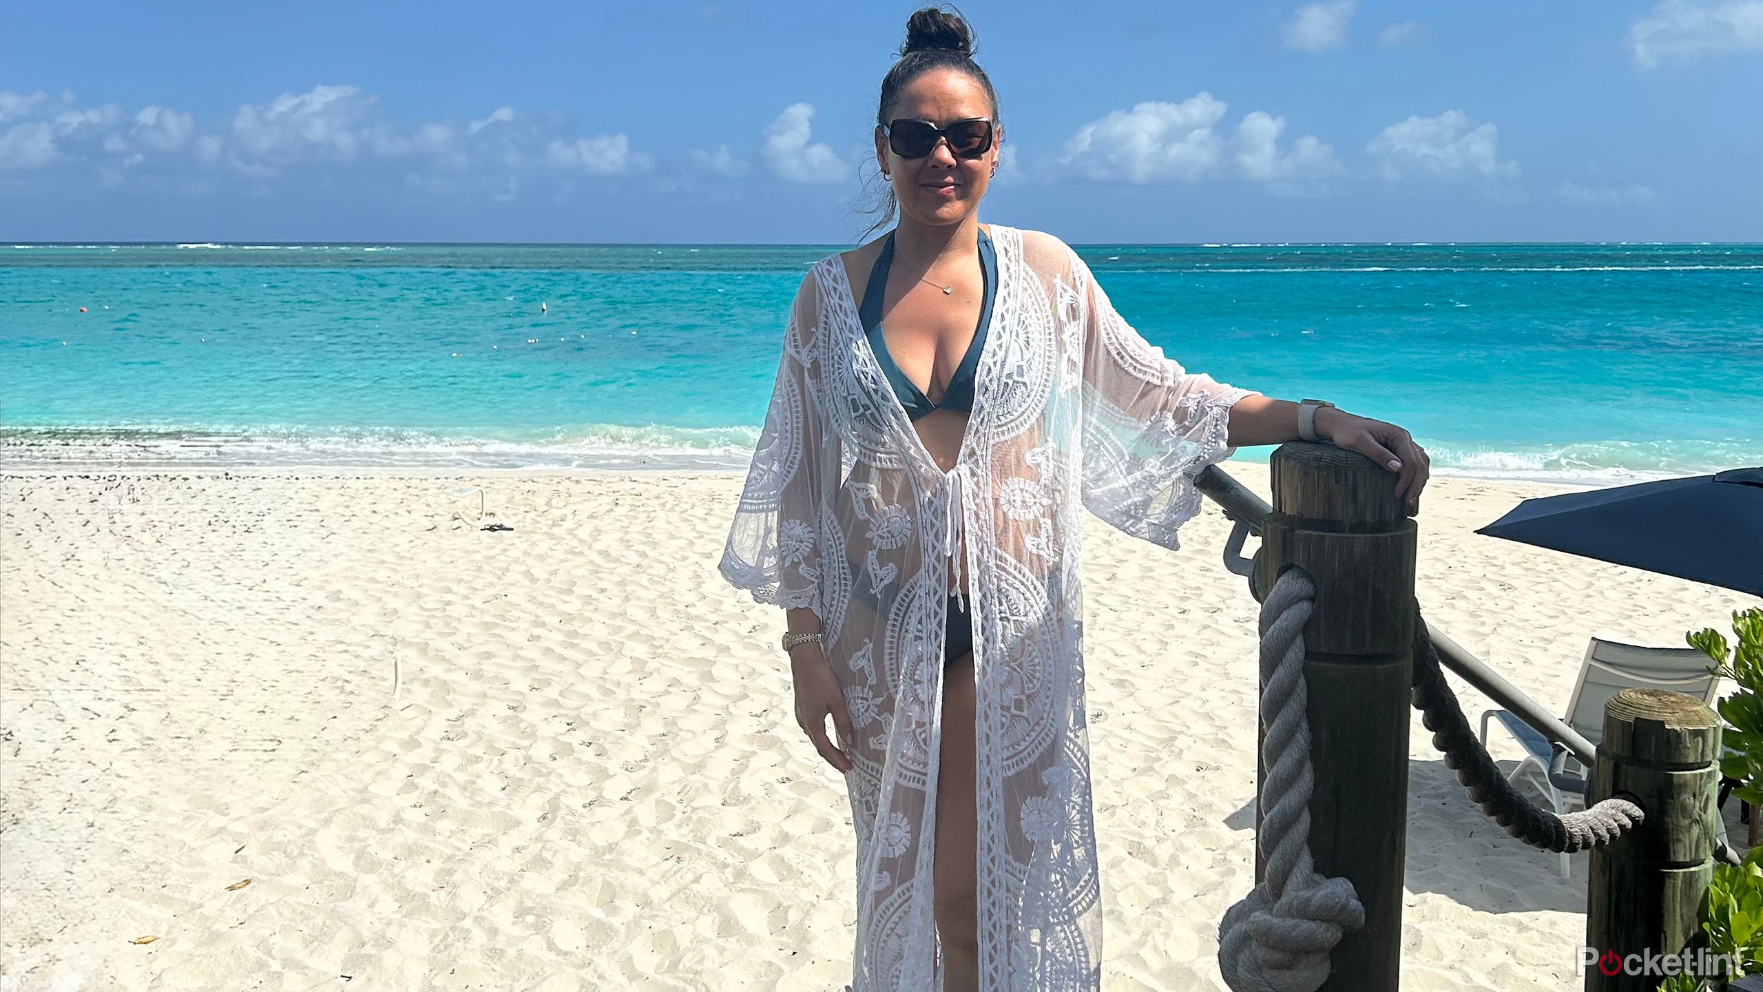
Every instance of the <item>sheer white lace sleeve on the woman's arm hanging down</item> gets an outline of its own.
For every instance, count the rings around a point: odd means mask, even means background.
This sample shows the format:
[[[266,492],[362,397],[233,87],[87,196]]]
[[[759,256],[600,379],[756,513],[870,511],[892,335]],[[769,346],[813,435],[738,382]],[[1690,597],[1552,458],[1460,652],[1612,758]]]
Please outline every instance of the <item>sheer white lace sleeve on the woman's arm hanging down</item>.
[[[830,526],[827,485],[837,478],[839,450],[825,440],[815,378],[811,341],[818,312],[809,274],[790,307],[777,380],[719,570],[758,602],[809,607],[823,616],[820,551]]]

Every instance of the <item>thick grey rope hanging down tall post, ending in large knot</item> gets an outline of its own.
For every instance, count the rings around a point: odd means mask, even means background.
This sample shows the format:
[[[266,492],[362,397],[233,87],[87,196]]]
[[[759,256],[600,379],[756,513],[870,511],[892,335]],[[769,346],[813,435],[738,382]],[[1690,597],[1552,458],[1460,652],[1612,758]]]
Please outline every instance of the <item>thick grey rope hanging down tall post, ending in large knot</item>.
[[[1315,582],[1287,568],[1261,607],[1261,724],[1264,775],[1255,842],[1262,883],[1224,914],[1218,969],[1234,992],[1315,992],[1329,951],[1365,925],[1352,883],[1326,879],[1310,858],[1310,720],[1305,711],[1305,637]]]

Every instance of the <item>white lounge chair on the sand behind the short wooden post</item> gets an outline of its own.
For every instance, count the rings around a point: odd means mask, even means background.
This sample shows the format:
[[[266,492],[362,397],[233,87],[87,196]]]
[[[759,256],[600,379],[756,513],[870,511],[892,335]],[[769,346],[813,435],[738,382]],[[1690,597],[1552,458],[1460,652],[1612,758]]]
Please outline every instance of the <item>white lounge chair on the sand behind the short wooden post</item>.
[[[1594,747],[1604,738],[1604,703],[1624,688],[1664,688],[1694,695],[1708,706],[1721,680],[1708,674],[1708,657],[1696,648],[1640,648],[1592,637],[1580,664],[1580,678],[1567,699],[1566,724],[1580,731]],[[1592,791],[1590,771],[1566,748],[1550,743],[1543,734],[1506,710],[1488,710],[1481,715],[1481,745],[1488,745],[1488,724],[1502,727],[1525,748],[1525,759],[1507,777],[1516,782],[1525,771],[1536,770],[1555,812],[1567,812],[1569,803],[1585,805]],[[1721,840],[1726,840],[1726,823],[1715,817]],[[1560,877],[1569,877],[1573,865],[1560,856]]]

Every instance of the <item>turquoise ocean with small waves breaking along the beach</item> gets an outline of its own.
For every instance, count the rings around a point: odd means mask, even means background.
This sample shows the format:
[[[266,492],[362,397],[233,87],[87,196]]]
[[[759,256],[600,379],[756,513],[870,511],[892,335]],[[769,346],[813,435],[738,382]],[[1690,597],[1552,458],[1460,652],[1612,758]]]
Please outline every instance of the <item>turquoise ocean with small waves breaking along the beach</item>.
[[[0,466],[739,468],[841,247],[0,244]],[[1435,471],[1763,464],[1763,245],[1074,247],[1188,369]]]

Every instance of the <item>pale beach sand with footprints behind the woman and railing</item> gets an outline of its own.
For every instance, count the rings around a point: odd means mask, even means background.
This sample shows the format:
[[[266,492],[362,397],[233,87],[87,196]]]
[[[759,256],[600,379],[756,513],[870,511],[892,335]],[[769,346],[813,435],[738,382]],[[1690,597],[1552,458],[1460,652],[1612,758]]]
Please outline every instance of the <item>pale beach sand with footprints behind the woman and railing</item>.
[[[513,530],[450,521],[467,484]],[[5,987],[841,988],[850,808],[795,727],[783,614],[716,574],[739,485],[5,477]],[[1470,533],[1555,489],[1435,480],[1419,560],[1426,616],[1551,708],[1587,635],[1682,644],[1745,605]],[[1174,554],[1084,526],[1104,988],[1224,988],[1255,602],[1213,507]],[[1587,858],[1560,881],[1412,731],[1403,988],[1573,983]]]

